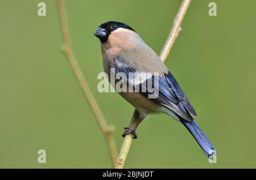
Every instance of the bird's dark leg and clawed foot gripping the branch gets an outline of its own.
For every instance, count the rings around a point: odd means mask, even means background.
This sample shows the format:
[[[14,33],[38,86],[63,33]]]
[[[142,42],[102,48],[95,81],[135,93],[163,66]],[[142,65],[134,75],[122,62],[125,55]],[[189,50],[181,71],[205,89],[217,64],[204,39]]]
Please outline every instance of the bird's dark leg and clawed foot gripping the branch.
[[[135,131],[139,126],[139,123],[141,123],[145,117],[142,117],[141,114],[139,114],[138,110],[135,109],[133,117],[131,118],[130,127],[125,127],[125,132],[123,132],[122,134],[123,138],[125,138],[125,136],[128,134],[133,134],[133,139],[138,138]]]

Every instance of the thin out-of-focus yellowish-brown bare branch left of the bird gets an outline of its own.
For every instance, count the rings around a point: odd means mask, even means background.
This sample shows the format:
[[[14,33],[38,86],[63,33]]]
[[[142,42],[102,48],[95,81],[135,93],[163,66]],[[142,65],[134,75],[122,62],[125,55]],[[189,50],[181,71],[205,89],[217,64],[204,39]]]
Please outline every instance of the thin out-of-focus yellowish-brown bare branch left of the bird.
[[[62,47],[64,53],[67,55],[67,58],[69,60],[69,63],[73,69],[73,72],[76,75],[77,81],[79,82],[82,92],[84,92],[84,95],[89,102],[90,108],[92,108],[93,114],[97,119],[98,124],[101,127],[102,132],[106,136],[106,140],[108,142],[109,146],[109,152],[110,156],[112,158],[113,166],[115,164],[115,161],[117,160],[117,151],[115,148],[115,142],[112,135],[112,130],[110,130],[108,124],[106,123],[106,120],[104,116],[101,113],[100,108],[97,105],[97,102],[92,94],[92,92],[89,89],[88,83],[86,82],[84,75],[82,74],[82,71],[79,67],[79,64],[77,63],[75,54],[73,53],[72,46],[71,46],[71,38],[69,36],[69,29],[68,29],[68,23],[67,23],[67,14],[65,11],[64,2],[62,0],[57,0],[57,5],[59,7],[59,16],[60,16],[60,24],[61,24],[61,30],[63,33],[64,38],[64,45]]]

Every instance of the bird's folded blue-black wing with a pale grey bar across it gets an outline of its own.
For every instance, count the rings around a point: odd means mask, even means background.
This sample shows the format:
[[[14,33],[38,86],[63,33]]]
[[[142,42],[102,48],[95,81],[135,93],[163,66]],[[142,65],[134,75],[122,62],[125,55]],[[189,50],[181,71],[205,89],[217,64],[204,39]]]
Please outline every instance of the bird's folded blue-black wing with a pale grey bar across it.
[[[175,112],[185,120],[191,122],[193,119],[191,115],[196,116],[195,109],[193,109],[187,96],[185,96],[170,71],[167,71],[162,76],[156,76],[154,74],[148,75],[147,72],[141,72],[141,69],[138,70],[135,67],[127,65],[122,59],[115,59],[110,67],[115,75],[119,72],[125,74],[125,78],[127,78],[126,82],[128,82],[129,85],[132,85],[134,88],[139,85],[141,90],[144,90],[140,91],[144,96],[148,97],[154,94],[152,88],[158,91],[158,96],[152,98],[152,100],[172,110],[172,112]],[[133,73],[135,76],[130,76],[129,73]],[[138,79],[140,81],[138,81]],[[147,84],[144,83],[146,80],[152,83],[152,88],[147,87]]]

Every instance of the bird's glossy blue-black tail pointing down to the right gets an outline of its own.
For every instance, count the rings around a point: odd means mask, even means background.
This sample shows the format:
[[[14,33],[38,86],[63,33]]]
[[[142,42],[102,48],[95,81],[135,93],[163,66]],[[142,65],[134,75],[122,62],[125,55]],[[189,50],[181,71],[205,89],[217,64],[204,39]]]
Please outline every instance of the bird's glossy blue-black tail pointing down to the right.
[[[201,128],[197,125],[197,123],[192,120],[192,122],[188,122],[185,119],[180,118],[180,122],[188,129],[188,131],[193,135],[196,139],[197,143],[200,145],[201,149],[204,151],[205,155],[208,157],[212,157],[216,155],[216,150],[213,147],[210,140],[201,130]]]

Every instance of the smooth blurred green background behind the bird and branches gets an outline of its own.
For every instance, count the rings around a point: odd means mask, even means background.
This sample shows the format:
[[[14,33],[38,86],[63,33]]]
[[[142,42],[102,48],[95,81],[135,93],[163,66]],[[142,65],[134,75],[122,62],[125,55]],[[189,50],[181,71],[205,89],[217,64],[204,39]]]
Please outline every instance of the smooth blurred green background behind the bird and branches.
[[[38,3],[46,16],[38,16]],[[181,1],[66,2],[77,60],[98,105],[115,126],[117,149],[134,108],[99,93],[100,42],[94,30],[125,22],[159,54]],[[256,168],[256,1],[192,1],[166,61],[217,149],[210,164],[188,131],[165,114],[139,126],[125,168]],[[56,2],[0,1],[0,168],[112,168],[105,137],[61,52]],[[46,164],[38,150],[45,149]]]

